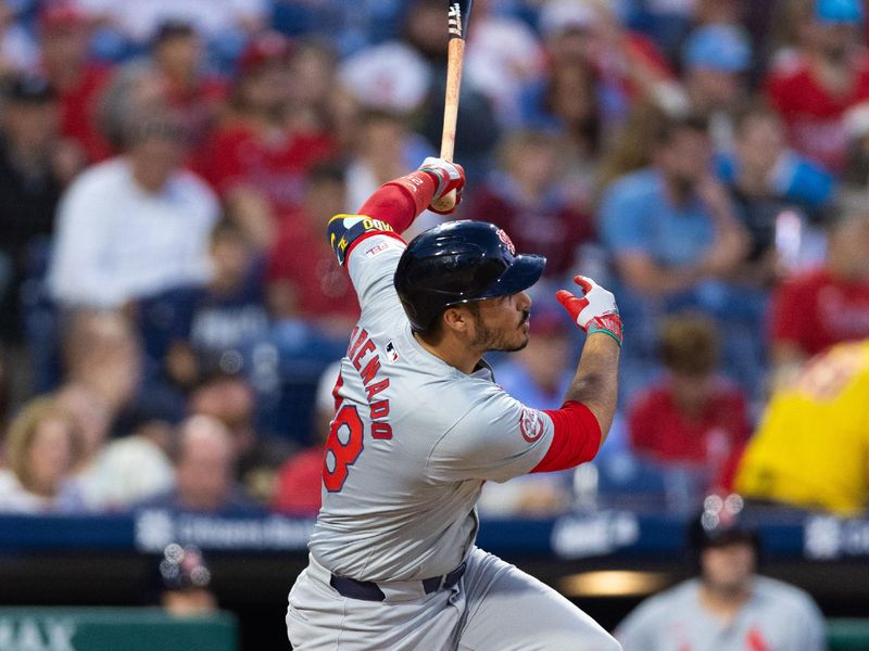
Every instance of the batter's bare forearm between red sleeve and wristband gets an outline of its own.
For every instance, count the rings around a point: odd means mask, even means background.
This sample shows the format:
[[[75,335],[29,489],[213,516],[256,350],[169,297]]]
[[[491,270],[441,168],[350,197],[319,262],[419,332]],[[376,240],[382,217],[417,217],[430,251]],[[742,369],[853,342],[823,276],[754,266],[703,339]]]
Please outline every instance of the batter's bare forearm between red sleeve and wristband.
[[[618,343],[608,334],[590,334],[582,348],[577,373],[565,396],[565,401],[585,405],[597,419],[601,445],[606,441],[616,413],[619,350]]]

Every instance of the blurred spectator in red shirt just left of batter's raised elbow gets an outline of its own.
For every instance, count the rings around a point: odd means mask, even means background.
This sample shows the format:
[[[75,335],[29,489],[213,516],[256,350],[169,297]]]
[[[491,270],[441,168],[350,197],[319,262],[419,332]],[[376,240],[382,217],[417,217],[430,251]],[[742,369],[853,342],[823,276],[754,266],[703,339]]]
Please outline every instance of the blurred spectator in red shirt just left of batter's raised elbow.
[[[358,302],[325,232],[329,219],[343,213],[345,205],[343,169],[315,167],[301,209],[281,224],[267,271],[268,302],[276,320],[304,324],[342,341],[358,318]]]

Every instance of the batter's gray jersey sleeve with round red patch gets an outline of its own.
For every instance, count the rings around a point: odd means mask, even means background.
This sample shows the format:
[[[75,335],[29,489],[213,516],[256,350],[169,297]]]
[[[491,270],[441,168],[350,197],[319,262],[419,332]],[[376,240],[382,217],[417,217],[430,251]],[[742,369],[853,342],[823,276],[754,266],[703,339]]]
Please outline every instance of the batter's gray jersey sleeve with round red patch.
[[[436,443],[428,462],[430,476],[442,482],[506,482],[540,463],[553,432],[546,413],[526,407],[493,384]]]

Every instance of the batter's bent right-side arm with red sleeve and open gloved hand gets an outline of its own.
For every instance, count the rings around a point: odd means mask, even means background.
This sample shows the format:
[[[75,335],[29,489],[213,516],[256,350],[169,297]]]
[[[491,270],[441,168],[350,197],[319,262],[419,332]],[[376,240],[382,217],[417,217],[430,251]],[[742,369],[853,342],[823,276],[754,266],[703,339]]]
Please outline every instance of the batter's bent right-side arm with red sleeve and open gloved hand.
[[[588,337],[577,373],[561,409],[546,411],[555,426],[550,449],[532,472],[572,468],[591,460],[613,424],[618,394],[621,318],[610,292],[590,278],[577,276],[578,297],[566,290],[556,294]],[[597,439],[596,446],[590,445]]]

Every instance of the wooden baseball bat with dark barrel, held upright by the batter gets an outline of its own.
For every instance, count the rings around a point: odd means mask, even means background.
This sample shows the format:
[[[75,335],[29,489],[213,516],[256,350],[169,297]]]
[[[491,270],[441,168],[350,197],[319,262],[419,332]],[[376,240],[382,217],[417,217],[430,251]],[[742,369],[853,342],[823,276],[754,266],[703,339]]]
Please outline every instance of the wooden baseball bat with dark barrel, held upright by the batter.
[[[462,88],[462,63],[465,58],[470,8],[474,0],[450,0],[446,8],[446,26],[450,42],[446,50],[446,93],[443,101],[443,131],[441,158],[453,159],[455,151],[455,123],[458,118],[458,91]],[[450,210],[455,205],[455,190],[433,203],[439,210]]]

